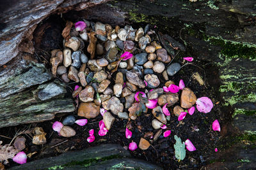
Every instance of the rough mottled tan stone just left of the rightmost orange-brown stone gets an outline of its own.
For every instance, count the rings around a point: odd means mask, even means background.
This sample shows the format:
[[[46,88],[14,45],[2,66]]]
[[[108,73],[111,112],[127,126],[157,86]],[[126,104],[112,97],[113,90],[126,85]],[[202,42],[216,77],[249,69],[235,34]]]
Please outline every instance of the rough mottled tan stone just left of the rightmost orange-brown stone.
[[[179,95],[177,93],[173,94],[163,94],[158,97],[157,103],[159,106],[164,106],[164,104],[168,103],[167,106],[170,107],[173,104],[179,101]]]

